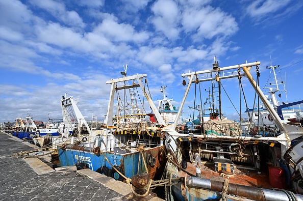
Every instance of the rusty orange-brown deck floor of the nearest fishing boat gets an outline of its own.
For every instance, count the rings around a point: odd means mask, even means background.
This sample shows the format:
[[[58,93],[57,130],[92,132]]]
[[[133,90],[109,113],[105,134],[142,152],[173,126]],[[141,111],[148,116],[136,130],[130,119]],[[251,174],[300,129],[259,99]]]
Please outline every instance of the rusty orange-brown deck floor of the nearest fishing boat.
[[[186,170],[195,175],[196,167],[194,163],[187,162]],[[261,173],[261,174],[260,174]],[[185,173],[179,171],[179,177],[184,177]],[[224,182],[229,177],[229,182],[238,185],[253,186],[259,188],[272,188],[269,184],[268,172],[257,171],[244,168],[235,168],[232,176],[220,177],[220,173],[216,172],[215,165],[212,162],[201,161],[201,178]]]

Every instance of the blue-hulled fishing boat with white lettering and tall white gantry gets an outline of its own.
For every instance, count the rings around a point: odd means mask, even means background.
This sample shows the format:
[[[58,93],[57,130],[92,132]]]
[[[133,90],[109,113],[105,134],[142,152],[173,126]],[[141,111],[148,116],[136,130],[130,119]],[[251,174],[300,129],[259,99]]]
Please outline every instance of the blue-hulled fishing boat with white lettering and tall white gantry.
[[[88,167],[119,181],[139,173],[148,173],[150,179],[163,173],[166,154],[160,128],[166,123],[148,93],[147,75],[127,76],[127,67],[124,70],[123,77],[106,82],[111,91],[105,124],[99,130],[90,129],[77,145],[58,146],[61,166]],[[153,121],[146,112],[150,108]],[[105,144],[94,147],[99,140]]]

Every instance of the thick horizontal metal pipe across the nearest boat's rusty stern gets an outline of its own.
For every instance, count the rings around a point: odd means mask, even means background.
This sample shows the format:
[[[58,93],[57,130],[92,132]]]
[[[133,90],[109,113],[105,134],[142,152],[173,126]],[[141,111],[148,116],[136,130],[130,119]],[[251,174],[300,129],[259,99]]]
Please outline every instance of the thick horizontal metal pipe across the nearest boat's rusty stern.
[[[224,183],[209,179],[190,177],[186,178],[186,186],[190,188],[200,188],[221,192]],[[283,191],[269,190],[252,186],[229,184],[228,193],[260,201],[289,201],[288,196]],[[303,201],[303,195],[295,194],[298,201]]]

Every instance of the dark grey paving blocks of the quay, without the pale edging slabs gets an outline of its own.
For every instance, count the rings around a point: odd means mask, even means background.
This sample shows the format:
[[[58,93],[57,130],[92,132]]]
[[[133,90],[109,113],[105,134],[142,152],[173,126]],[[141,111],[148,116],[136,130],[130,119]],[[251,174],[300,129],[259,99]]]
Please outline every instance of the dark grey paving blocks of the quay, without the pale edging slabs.
[[[120,200],[122,194],[74,170],[38,175],[20,156],[31,151],[28,142],[0,132],[0,201],[102,201]],[[30,145],[30,144],[29,144]],[[106,179],[111,179],[107,178]]]

